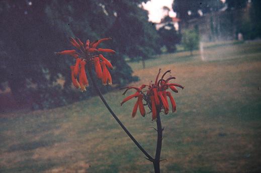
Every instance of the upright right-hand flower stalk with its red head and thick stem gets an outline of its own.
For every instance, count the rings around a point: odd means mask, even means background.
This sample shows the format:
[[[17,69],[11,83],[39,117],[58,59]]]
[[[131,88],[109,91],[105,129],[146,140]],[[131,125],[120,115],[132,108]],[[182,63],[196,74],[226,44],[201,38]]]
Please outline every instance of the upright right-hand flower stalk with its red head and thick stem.
[[[125,94],[130,89],[134,89],[134,90],[136,90],[136,92],[132,95],[129,95],[121,102],[121,105],[122,105],[126,101],[128,101],[134,97],[137,97],[138,99],[133,107],[132,117],[135,117],[138,107],[139,107],[141,116],[145,116],[145,109],[144,109],[144,105],[145,105],[150,109],[150,112],[152,115],[152,120],[156,121],[157,146],[156,146],[155,157],[152,160],[155,172],[160,172],[159,162],[160,162],[160,152],[161,152],[161,145],[162,145],[162,131],[164,129],[161,126],[160,112],[163,112],[164,114],[168,114],[168,112],[169,112],[169,105],[168,105],[167,97],[169,97],[172,112],[176,111],[176,102],[173,99],[171,93],[166,90],[168,88],[170,88],[172,91],[178,92],[178,89],[176,87],[180,87],[180,88],[184,89],[184,87],[180,84],[169,83],[170,80],[176,79],[175,77],[169,77],[167,79],[164,79],[164,76],[167,73],[170,73],[170,70],[166,71],[161,76],[161,78],[158,79],[159,74],[160,74],[160,69],[159,69],[159,72],[155,78],[154,83],[152,83],[152,81],[151,81],[149,85],[143,84],[140,87],[123,88],[123,89],[126,89],[123,94]],[[143,100],[145,103],[143,103]]]

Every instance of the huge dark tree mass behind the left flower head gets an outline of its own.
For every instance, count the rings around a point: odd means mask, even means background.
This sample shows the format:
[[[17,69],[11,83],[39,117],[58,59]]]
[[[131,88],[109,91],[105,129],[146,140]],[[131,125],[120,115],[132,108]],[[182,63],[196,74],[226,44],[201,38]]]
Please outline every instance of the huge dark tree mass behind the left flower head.
[[[107,58],[115,66],[113,82],[119,85],[136,79],[123,57],[148,57],[158,49],[147,12],[138,7],[142,1],[30,2],[0,2],[0,86],[4,89],[8,83],[18,101],[31,100],[35,108],[64,105],[91,95],[71,89],[73,59],[54,55],[72,49],[68,37],[112,37],[112,42],[103,44],[117,51]],[[65,80],[63,86],[57,84],[58,78]]]

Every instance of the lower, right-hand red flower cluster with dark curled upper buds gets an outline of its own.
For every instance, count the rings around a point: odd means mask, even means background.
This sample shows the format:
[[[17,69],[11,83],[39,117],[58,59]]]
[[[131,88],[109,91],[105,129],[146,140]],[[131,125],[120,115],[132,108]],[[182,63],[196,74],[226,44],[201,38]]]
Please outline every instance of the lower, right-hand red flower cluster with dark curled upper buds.
[[[122,89],[126,89],[123,95],[129,90],[129,89],[135,89],[136,92],[132,95],[129,95],[126,97],[122,102],[125,103],[126,101],[137,97],[138,100],[134,105],[133,111],[132,111],[132,117],[134,117],[137,113],[137,109],[139,107],[140,114],[142,116],[145,116],[145,109],[144,105],[148,105],[149,109],[152,111],[152,120],[155,120],[157,117],[157,112],[160,112],[162,109],[164,110],[164,113],[167,114],[169,111],[169,105],[168,105],[168,99],[170,100],[171,103],[171,108],[172,112],[176,111],[176,102],[173,99],[172,95],[170,92],[166,91],[168,88],[171,89],[173,92],[178,93],[178,89],[176,87],[180,87],[184,89],[184,87],[180,84],[177,83],[169,83],[170,80],[176,79],[175,77],[169,77],[167,79],[164,79],[164,76],[170,73],[170,70],[166,71],[161,79],[158,80],[159,74],[160,74],[160,69],[157,74],[157,77],[155,79],[155,82],[152,83],[150,82],[149,85],[141,85],[140,87],[125,87]],[[143,89],[146,89],[143,91]],[[143,100],[146,102],[143,104]]]

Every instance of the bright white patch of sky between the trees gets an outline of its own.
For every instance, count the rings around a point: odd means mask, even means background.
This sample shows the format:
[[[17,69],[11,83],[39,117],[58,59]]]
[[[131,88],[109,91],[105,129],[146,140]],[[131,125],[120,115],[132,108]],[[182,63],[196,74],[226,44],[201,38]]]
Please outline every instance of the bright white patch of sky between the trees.
[[[172,11],[172,3],[173,0],[150,0],[146,4],[142,3],[142,6],[149,12],[149,21],[159,23],[160,19],[164,17],[164,12],[162,10],[163,6],[166,6],[171,10],[168,14],[170,17],[176,17],[176,13]]]

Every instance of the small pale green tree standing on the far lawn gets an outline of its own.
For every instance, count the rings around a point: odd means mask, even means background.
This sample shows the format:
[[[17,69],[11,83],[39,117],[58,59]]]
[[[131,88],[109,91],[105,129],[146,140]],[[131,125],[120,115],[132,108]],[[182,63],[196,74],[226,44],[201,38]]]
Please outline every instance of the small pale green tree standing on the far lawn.
[[[185,50],[189,50],[191,56],[193,55],[193,50],[199,48],[199,34],[197,30],[183,30],[182,34],[182,45]]]

